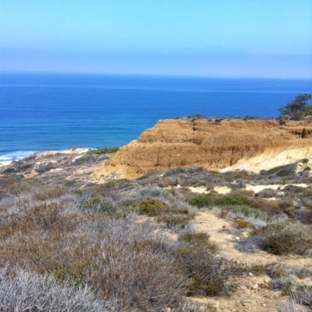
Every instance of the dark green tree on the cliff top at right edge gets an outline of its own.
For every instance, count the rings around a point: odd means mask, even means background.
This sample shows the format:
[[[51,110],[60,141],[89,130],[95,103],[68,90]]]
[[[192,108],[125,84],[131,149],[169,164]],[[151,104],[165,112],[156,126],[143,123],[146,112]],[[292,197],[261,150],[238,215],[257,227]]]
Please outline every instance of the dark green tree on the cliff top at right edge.
[[[308,100],[312,99],[312,94],[298,95],[292,102],[286,106],[281,106],[278,112],[282,116],[289,116],[291,120],[300,120],[307,115],[312,115],[312,105],[308,104]]]

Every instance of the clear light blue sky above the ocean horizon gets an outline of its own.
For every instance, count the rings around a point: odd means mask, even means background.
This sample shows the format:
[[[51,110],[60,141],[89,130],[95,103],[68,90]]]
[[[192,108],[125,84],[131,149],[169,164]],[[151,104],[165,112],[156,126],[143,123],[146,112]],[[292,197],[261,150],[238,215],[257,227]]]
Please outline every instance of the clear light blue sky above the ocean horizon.
[[[312,79],[312,0],[0,0],[0,70]]]

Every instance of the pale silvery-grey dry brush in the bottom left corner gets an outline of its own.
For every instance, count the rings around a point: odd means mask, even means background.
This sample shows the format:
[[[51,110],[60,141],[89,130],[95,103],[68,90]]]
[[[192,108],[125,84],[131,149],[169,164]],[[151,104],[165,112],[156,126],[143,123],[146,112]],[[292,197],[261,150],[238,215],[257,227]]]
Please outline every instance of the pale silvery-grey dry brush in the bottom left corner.
[[[0,270],[0,311],[115,312],[114,300],[97,299],[88,287],[60,285],[48,275]]]

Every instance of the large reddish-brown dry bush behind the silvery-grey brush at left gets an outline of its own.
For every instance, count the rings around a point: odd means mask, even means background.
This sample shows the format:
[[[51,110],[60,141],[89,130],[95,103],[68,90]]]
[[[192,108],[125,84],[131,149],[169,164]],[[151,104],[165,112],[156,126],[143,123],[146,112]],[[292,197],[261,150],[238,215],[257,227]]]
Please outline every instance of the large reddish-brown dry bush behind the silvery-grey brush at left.
[[[156,311],[177,305],[187,278],[174,257],[150,240],[151,228],[114,221],[57,202],[3,213],[1,266],[15,265],[58,282],[88,285],[98,298]]]

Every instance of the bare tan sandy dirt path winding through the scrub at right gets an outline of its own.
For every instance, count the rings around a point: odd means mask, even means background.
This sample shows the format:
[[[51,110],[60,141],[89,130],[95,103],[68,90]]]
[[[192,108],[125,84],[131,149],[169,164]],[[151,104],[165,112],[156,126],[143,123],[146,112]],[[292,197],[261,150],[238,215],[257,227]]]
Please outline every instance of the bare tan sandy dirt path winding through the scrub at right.
[[[200,211],[195,219],[196,231],[207,233],[210,240],[220,248],[220,255],[228,260],[237,261],[244,265],[287,264],[303,266],[312,269],[311,259],[302,259],[297,256],[279,257],[259,251],[254,254],[239,252],[235,249],[235,242],[239,239],[230,234],[226,229],[232,227],[227,220],[221,219],[210,211]],[[245,234],[247,235],[247,234]],[[252,273],[245,277],[239,277],[239,287],[230,297],[218,297],[213,299],[195,298],[199,302],[210,302],[218,311],[254,311],[276,312],[277,307],[283,306],[288,297],[282,296],[281,291],[273,291],[263,288],[270,282],[267,275],[255,276]],[[306,308],[306,311],[311,311]]]

